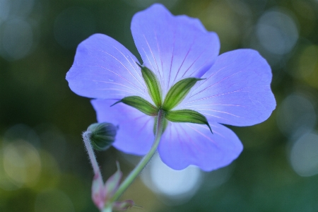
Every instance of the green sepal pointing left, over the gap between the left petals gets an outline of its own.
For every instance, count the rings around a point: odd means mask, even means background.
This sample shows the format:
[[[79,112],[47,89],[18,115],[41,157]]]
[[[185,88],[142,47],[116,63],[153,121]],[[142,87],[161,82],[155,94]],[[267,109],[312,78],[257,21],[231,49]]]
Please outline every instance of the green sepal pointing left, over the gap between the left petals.
[[[126,105],[134,107],[137,110],[140,110],[141,112],[143,112],[144,114],[148,114],[149,116],[158,115],[157,107],[153,106],[150,102],[148,102],[147,100],[144,100],[143,98],[139,96],[132,95],[126,98],[122,98],[122,100],[114,102],[113,105],[116,105],[119,102],[123,102]],[[111,107],[113,105],[111,105]]]

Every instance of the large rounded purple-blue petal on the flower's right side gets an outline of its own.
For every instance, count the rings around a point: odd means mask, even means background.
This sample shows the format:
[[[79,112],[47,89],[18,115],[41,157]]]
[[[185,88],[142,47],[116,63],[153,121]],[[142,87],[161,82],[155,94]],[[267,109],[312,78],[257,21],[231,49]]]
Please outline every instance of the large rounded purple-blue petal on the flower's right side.
[[[196,110],[210,122],[236,126],[264,122],[276,107],[271,77],[271,67],[257,51],[226,52],[175,110]]]

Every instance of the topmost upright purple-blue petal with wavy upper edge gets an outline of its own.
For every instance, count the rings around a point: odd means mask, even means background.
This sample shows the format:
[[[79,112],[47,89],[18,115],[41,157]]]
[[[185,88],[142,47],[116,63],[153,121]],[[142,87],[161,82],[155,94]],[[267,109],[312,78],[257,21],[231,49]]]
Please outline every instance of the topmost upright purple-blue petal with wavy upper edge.
[[[220,49],[218,35],[198,19],[172,16],[161,4],[136,13],[131,33],[143,64],[160,78],[163,95],[182,78],[202,76]]]

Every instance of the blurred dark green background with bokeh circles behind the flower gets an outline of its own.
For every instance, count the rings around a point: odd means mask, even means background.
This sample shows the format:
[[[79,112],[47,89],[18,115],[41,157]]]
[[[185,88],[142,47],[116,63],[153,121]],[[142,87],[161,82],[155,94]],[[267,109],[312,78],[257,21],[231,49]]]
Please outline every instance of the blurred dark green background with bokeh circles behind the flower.
[[[95,122],[88,98],[65,80],[76,46],[93,33],[139,57],[131,17],[153,0],[0,0],[0,211],[98,211],[81,132]],[[318,1],[165,0],[200,18],[220,52],[257,49],[271,64],[277,108],[264,123],[231,127],[245,146],[228,167],[174,171],[158,157],[123,199],[131,211],[318,211]],[[139,57],[140,58],[140,57]],[[100,152],[106,179],[140,158]]]

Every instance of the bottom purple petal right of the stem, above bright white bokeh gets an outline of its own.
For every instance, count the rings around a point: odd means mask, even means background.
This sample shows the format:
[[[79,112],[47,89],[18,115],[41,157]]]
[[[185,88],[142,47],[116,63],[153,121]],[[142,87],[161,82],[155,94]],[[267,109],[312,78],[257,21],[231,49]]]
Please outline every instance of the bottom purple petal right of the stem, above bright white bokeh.
[[[163,163],[175,170],[197,165],[211,171],[232,163],[242,152],[240,139],[227,127],[190,123],[169,123],[159,143],[158,152]]]

